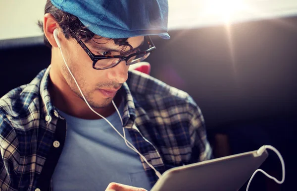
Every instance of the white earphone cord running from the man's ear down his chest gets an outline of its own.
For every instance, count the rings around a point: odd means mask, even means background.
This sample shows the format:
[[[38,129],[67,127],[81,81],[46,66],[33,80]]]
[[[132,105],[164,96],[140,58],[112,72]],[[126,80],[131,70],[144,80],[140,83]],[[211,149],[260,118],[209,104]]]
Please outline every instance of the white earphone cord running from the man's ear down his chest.
[[[61,52],[61,55],[62,55],[62,58],[63,58],[63,61],[64,61],[64,63],[65,63],[65,65],[66,65],[66,67],[67,67],[67,69],[68,69],[68,71],[69,71],[69,73],[71,74],[71,76],[72,76],[72,78],[73,78],[73,80],[74,80],[74,82],[75,82],[75,84],[76,84],[76,86],[77,86],[77,88],[79,89],[79,91],[80,91],[80,93],[81,93],[81,95],[82,95],[82,97],[84,98],[84,100],[85,100],[85,102],[86,102],[86,104],[88,105],[88,107],[90,108],[90,110],[92,111],[92,112],[94,112],[95,114],[97,114],[99,117],[101,117],[102,119],[104,119],[124,140],[125,140],[125,143],[126,143],[126,145],[130,148],[130,149],[132,149],[133,151],[135,151],[137,154],[139,154],[141,157],[142,157],[142,159],[148,164],[148,166],[151,168],[151,169],[153,169],[154,171],[155,171],[155,174],[157,175],[157,177],[158,178],[160,178],[162,175],[161,175],[161,173],[160,172],[158,172],[149,162],[148,162],[148,160],[146,159],[146,157],[144,157],[135,147],[134,147],[134,145],[132,144],[132,143],[130,143],[127,139],[126,139],[126,134],[125,134],[125,128],[123,127],[123,134],[124,134],[124,136],[106,119],[106,118],[104,118],[103,116],[101,116],[98,112],[96,112],[91,106],[90,106],[90,104],[89,104],[89,102],[87,101],[87,99],[85,98],[85,96],[84,96],[84,94],[83,94],[83,92],[82,92],[82,90],[81,90],[81,88],[79,87],[79,85],[78,85],[78,83],[77,83],[77,81],[76,81],[76,79],[75,79],[75,77],[74,77],[74,75],[72,74],[72,72],[71,72],[71,70],[70,70],[70,68],[68,67],[68,64],[66,63],[66,60],[65,60],[65,58],[64,58],[64,56],[63,56],[63,53],[62,53],[62,49],[61,49],[61,44],[60,44],[60,42],[59,42],[59,39],[57,38],[57,33],[58,33],[58,30],[57,29],[55,29],[54,31],[53,31],[53,37],[54,37],[54,39],[55,39],[55,41],[56,41],[56,43],[57,43],[57,45],[58,45],[58,48],[60,49],[60,52]],[[120,115],[120,112],[119,112],[119,110],[118,110],[118,108],[116,107],[116,105],[114,104],[114,101],[112,100],[112,104],[113,104],[113,106],[114,106],[114,108],[115,108],[115,110],[117,111],[117,114],[118,114],[118,116],[119,116],[119,118],[120,118],[120,120],[121,120],[121,123],[122,123],[122,126],[123,126],[123,120],[122,120],[122,117],[121,117],[121,115]]]

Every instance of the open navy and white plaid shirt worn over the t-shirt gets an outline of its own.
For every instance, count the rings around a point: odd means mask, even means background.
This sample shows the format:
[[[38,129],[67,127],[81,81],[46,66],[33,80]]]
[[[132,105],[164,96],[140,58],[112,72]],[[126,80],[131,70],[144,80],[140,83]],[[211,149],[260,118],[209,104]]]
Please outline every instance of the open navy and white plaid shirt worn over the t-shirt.
[[[49,69],[0,99],[1,191],[52,190],[67,124],[50,101]],[[187,93],[138,71],[129,71],[121,92],[124,127],[160,173],[211,158],[203,117]],[[140,160],[153,186],[157,177]]]

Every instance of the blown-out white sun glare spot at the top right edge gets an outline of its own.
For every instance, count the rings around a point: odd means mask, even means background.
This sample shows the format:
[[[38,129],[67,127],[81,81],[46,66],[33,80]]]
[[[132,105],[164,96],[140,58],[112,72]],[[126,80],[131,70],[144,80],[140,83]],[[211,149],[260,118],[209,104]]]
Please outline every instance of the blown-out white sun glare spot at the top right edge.
[[[229,22],[232,15],[246,8],[244,0],[206,0],[204,10],[207,15],[219,16]]]

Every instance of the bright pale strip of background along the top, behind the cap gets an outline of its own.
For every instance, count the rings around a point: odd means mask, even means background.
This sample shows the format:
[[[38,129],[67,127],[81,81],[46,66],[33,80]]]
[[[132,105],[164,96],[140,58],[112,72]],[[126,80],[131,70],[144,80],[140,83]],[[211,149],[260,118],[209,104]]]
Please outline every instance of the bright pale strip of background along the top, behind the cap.
[[[296,0],[168,0],[168,28],[203,28],[297,14]],[[0,39],[42,35],[46,0],[0,0]]]

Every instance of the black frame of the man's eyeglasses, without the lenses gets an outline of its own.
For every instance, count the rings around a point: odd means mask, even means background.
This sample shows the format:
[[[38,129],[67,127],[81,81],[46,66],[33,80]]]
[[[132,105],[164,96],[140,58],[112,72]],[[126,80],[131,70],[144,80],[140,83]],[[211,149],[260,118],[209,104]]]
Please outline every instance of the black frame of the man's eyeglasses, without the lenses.
[[[72,31],[71,31],[72,32]],[[102,56],[102,55],[95,55],[93,54],[90,49],[85,45],[85,43],[83,43],[83,41],[81,39],[79,39],[74,32],[72,32],[74,34],[74,36],[76,37],[76,41],[78,42],[78,44],[85,50],[85,52],[88,54],[88,56],[90,57],[90,59],[93,61],[93,68],[94,69],[98,69],[98,70],[103,70],[103,69],[109,69],[111,67],[116,66],[117,64],[121,63],[122,61],[125,61],[126,65],[132,65],[132,64],[136,64],[139,63],[143,60],[145,60],[146,58],[148,58],[149,54],[154,51],[156,49],[156,47],[154,46],[150,36],[145,36],[145,39],[147,40],[148,43],[148,47],[149,49],[146,51],[141,51],[141,52],[137,52],[137,53],[133,53],[127,57],[121,56],[121,55],[115,55],[115,56]],[[145,57],[144,59],[140,59],[138,62],[132,62],[132,63],[127,63],[127,61],[129,59],[131,59],[132,57],[135,57],[137,55],[147,55],[147,57]],[[111,64],[110,66],[104,67],[104,68],[97,68],[95,67],[96,63],[99,60],[104,60],[104,59],[120,59],[119,62],[117,64]]]

